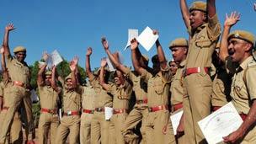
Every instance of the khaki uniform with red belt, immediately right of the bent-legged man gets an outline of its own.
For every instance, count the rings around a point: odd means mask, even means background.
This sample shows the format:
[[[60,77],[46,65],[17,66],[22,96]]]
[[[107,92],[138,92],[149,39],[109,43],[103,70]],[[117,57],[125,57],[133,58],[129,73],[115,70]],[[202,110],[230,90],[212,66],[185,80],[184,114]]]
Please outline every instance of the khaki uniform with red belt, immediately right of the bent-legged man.
[[[153,135],[147,139],[147,143],[175,143],[168,111],[168,97],[172,79],[169,67],[161,70],[155,76],[144,69],[141,77],[147,83],[147,105],[150,110],[146,126]]]

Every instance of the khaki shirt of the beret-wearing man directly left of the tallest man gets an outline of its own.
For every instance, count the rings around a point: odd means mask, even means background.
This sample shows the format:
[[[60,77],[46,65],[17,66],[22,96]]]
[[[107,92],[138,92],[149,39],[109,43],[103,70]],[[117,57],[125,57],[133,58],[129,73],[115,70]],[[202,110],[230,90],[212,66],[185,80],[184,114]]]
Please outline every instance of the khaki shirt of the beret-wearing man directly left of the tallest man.
[[[170,88],[170,92],[172,93],[172,96],[171,96],[172,105],[180,104],[183,102],[183,98],[185,95],[184,86],[183,86],[183,83],[184,83],[183,71],[184,71],[185,63],[186,61],[184,60],[179,64],[176,74],[172,78],[172,83]]]

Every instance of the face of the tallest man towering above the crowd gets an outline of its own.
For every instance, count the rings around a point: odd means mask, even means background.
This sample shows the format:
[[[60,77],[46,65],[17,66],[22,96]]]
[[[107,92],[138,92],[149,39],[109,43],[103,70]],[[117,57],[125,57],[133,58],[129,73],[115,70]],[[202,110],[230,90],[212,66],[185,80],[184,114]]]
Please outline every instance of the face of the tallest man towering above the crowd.
[[[199,10],[193,10],[189,13],[190,26],[196,29],[201,24],[205,23],[205,13]]]

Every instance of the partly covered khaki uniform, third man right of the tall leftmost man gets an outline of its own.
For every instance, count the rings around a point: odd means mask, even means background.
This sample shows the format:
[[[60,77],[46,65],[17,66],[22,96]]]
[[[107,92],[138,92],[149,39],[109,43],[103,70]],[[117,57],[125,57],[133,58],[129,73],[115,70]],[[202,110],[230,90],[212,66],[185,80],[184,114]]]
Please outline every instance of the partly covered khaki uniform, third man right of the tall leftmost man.
[[[83,87],[82,115],[80,125],[80,143],[91,143],[91,123],[93,120],[94,97],[96,93],[92,86]]]

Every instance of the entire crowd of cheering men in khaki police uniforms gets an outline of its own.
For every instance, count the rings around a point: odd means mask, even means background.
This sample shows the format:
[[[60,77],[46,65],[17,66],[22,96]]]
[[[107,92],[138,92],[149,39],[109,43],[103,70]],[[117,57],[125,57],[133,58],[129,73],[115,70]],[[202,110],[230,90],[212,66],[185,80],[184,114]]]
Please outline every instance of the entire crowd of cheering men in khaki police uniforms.
[[[230,32],[240,20],[236,12],[227,14],[221,35],[215,0],[194,2],[189,8],[185,0],[179,3],[189,40],[171,41],[173,61],[167,61],[157,40],[157,55],[152,56],[152,67],[148,67],[149,59],[141,55],[138,42],[133,39],[134,71],[131,71],[120,63],[118,53],[112,53],[108,41],[102,38],[104,51],[117,69],[113,82],[109,82],[106,58],[101,60],[98,71],[91,71],[90,47],[86,53],[89,79],[86,86],[79,83],[77,57],[70,62],[71,73],[65,78],[58,76],[55,66],[46,70],[46,64],[41,65],[37,75],[41,108],[39,143],[45,144],[48,139],[51,143],[65,143],[67,136],[71,144],[206,143],[197,122],[230,101],[243,124],[224,136],[223,141],[256,143],[254,35],[244,30]],[[13,50],[14,56],[11,55],[8,35],[13,29],[13,24],[6,26],[1,49],[0,143],[22,142],[20,115],[25,115],[26,142],[34,143],[30,72],[24,61],[26,49],[18,46]],[[158,35],[157,30],[153,34]],[[47,57],[45,53],[43,60]],[[136,101],[129,110],[133,92]],[[109,120],[105,119],[105,107],[113,108]],[[184,113],[174,136],[170,115],[180,110]],[[139,123],[141,136],[135,131]]]

